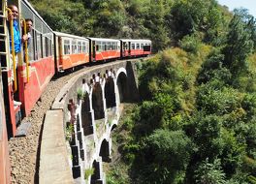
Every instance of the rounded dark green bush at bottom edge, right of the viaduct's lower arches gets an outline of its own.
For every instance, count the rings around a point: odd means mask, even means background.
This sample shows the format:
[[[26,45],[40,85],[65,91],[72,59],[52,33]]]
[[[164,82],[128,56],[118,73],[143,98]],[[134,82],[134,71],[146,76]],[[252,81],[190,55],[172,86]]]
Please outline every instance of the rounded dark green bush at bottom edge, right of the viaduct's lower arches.
[[[156,130],[145,140],[139,183],[172,183],[186,168],[192,147],[181,131]]]

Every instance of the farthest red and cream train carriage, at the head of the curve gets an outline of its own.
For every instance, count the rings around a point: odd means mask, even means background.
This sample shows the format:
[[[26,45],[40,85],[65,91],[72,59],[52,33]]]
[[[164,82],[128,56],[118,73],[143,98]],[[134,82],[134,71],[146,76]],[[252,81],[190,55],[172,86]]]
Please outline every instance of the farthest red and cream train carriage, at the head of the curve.
[[[151,53],[150,40],[120,39],[121,57],[146,56]]]

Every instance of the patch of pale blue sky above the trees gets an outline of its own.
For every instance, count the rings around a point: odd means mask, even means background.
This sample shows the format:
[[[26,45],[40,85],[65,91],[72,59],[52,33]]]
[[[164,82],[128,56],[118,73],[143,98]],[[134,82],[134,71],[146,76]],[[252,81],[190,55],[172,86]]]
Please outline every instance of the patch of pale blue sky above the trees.
[[[235,8],[245,8],[249,10],[249,14],[256,17],[256,0],[217,0],[220,5],[226,5],[230,11]]]

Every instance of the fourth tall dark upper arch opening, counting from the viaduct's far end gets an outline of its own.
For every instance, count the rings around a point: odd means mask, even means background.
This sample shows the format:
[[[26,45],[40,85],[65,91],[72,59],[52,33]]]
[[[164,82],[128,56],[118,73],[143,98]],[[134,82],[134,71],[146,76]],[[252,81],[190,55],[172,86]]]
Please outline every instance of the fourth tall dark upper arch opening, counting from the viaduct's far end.
[[[85,93],[81,102],[80,116],[84,136],[93,134],[92,117],[90,111],[90,98],[87,92]]]

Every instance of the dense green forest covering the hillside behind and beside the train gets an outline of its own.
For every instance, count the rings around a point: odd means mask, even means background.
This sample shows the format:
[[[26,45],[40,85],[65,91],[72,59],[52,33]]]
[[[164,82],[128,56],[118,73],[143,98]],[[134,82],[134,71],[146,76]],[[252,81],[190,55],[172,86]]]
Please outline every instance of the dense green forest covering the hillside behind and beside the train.
[[[256,183],[256,19],[246,10],[215,0],[31,2],[56,31],[152,40],[108,183]]]

